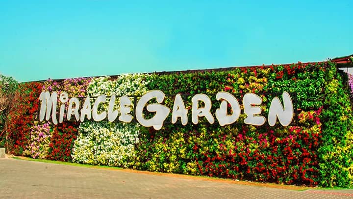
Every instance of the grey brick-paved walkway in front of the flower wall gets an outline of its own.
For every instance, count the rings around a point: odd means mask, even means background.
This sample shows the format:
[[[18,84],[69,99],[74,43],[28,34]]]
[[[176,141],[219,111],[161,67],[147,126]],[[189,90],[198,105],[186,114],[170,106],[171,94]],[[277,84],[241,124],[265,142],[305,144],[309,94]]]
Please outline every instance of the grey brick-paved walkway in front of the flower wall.
[[[343,199],[353,198],[353,190],[293,191],[4,158],[0,159],[0,198]]]

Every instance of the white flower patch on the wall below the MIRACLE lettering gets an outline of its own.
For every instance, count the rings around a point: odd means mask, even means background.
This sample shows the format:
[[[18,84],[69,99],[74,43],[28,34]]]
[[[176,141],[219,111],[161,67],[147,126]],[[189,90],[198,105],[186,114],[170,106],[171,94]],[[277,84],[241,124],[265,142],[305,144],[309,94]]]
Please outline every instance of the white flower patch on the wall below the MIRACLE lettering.
[[[137,124],[108,121],[81,123],[73,148],[73,162],[127,168],[138,142]]]

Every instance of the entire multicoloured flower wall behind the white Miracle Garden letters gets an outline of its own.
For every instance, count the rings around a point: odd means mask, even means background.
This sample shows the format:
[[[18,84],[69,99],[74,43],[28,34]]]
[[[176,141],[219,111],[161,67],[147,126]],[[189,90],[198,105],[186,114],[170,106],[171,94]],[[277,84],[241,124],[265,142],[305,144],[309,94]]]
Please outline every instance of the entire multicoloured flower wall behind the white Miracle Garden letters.
[[[48,80],[21,84],[17,109],[10,113],[8,151],[32,158],[108,165],[136,170],[207,175],[239,180],[324,187],[353,186],[353,117],[351,82],[331,62],[269,67],[229,68],[222,71],[130,74],[115,77]],[[69,97],[141,96],[162,90],[163,104],[173,108],[182,95],[189,110],[188,124],[172,124],[171,114],[161,130],[137,122],[76,122],[58,125],[39,122],[41,91],[66,91]],[[218,91],[232,93],[240,102],[245,93],[262,98],[267,116],[271,100],[291,93],[292,123],[271,127],[244,123],[246,115],[227,126],[200,117],[191,122],[191,98],[207,94],[211,113],[219,108]],[[108,97],[109,98],[109,97]],[[134,102],[135,98],[131,98]],[[109,101],[109,99],[107,99]],[[117,98],[115,107],[119,109]],[[242,104],[241,104],[242,106]],[[99,107],[107,110],[108,103]],[[150,117],[153,114],[147,113]],[[180,119],[179,119],[180,120]]]

